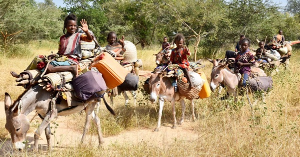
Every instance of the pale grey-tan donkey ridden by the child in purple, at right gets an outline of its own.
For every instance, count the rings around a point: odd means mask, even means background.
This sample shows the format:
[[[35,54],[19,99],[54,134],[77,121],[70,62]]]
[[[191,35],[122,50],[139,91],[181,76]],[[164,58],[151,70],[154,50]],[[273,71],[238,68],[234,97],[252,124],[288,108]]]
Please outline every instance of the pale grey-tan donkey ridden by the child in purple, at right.
[[[213,64],[210,74],[210,89],[214,91],[219,85],[226,86],[227,93],[233,95],[235,101],[237,101],[237,93],[235,89],[241,79],[241,76],[228,69],[228,64],[218,64],[218,61],[215,59],[207,60]],[[266,76],[262,69],[251,67],[251,71],[258,76]]]

